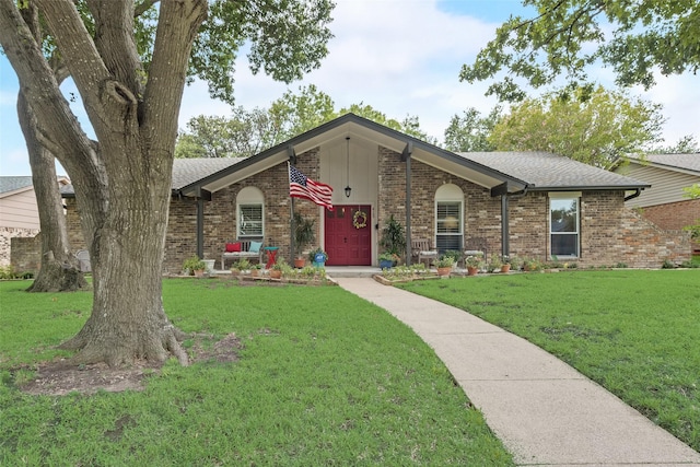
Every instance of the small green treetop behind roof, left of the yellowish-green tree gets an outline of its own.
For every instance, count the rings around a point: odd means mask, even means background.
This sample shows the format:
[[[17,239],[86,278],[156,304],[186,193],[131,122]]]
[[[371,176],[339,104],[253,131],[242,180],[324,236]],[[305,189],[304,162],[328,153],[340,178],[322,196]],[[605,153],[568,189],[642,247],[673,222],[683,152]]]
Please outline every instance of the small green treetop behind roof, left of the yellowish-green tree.
[[[475,107],[467,108],[462,117],[453,115],[445,130],[445,149],[457,152],[494,151],[489,137],[501,118],[502,107],[498,105],[487,116],[481,116]]]

